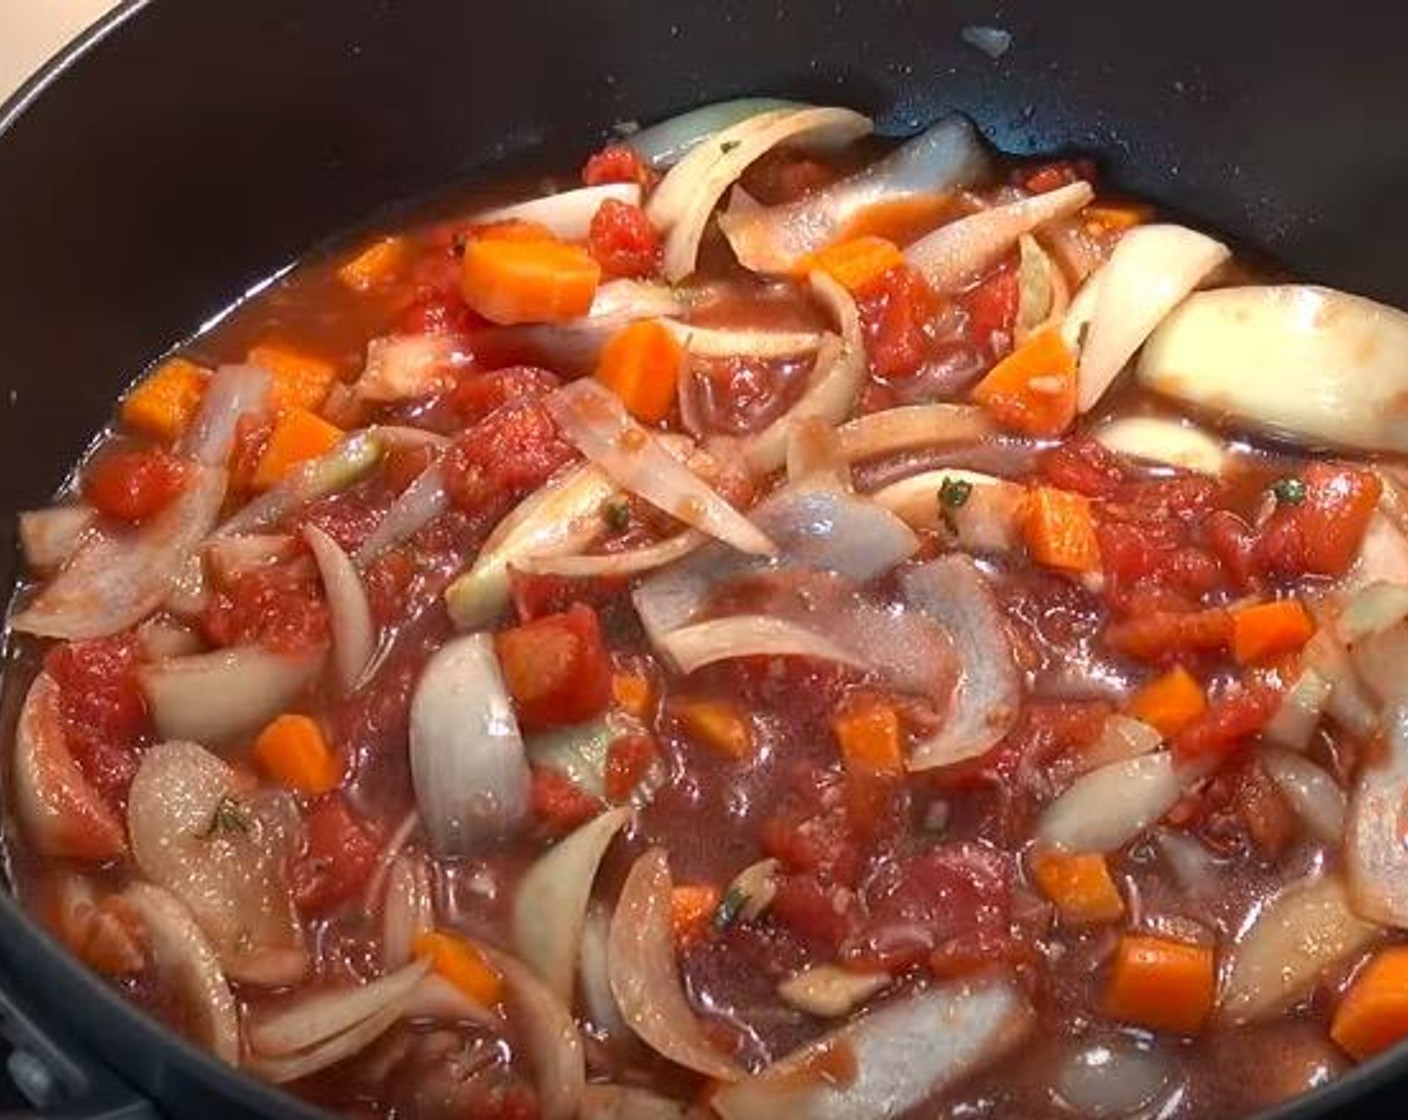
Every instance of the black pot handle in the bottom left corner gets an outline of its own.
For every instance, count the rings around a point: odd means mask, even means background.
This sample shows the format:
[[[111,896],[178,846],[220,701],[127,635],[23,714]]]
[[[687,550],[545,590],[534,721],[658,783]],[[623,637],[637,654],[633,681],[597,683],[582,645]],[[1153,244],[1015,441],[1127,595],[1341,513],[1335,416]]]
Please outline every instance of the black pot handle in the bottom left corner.
[[[84,1047],[42,1027],[8,988],[0,985],[6,1066],[31,1107],[0,1112],[0,1120],[159,1120],[152,1102]]]

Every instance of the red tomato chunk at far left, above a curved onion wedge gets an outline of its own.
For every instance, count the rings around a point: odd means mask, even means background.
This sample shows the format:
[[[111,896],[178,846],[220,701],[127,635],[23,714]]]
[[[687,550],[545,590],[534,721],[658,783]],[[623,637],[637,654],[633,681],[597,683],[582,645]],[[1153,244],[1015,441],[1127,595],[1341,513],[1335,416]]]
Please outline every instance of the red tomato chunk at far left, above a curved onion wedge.
[[[137,682],[141,645],[131,634],[55,645],[44,668],[58,685],[59,720],[83,776],[113,807],[127,802],[152,733]]]

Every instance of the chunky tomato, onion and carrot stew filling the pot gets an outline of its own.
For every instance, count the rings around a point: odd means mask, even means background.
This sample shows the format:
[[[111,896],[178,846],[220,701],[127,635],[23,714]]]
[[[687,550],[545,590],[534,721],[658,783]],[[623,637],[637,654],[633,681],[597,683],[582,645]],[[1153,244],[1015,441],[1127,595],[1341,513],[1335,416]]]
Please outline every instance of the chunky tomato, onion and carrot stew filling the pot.
[[[1408,317],[736,101],[146,373],[8,852],[355,1116],[1226,1117],[1408,1034]]]

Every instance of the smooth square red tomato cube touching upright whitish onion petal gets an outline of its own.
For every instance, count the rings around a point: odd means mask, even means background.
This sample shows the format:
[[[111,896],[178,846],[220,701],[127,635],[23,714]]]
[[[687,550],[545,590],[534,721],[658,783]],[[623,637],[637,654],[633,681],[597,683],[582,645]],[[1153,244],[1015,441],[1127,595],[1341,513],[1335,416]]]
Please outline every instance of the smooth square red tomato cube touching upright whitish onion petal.
[[[611,702],[611,659],[591,607],[577,604],[505,630],[494,648],[527,730],[582,723]]]

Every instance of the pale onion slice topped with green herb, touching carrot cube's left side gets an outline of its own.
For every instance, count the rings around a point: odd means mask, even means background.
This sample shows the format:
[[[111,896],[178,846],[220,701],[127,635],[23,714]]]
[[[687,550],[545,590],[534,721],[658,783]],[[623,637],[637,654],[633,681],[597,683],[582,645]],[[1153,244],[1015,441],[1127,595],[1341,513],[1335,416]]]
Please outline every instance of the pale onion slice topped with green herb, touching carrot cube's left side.
[[[945,483],[969,486],[962,506],[939,500]],[[1011,552],[1022,541],[1026,487],[976,471],[925,471],[894,482],[870,496],[914,528],[952,527],[969,552]]]

